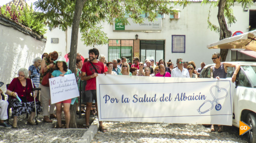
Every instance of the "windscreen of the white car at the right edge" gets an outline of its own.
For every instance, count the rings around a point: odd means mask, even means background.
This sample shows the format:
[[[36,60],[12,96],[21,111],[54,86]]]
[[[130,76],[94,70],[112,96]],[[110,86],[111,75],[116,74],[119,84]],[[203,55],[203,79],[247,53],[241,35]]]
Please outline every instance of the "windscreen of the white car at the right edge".
[[[256,66],[244,65],[242,68],[246,76],[251,81],[253,87],[256,87]]]

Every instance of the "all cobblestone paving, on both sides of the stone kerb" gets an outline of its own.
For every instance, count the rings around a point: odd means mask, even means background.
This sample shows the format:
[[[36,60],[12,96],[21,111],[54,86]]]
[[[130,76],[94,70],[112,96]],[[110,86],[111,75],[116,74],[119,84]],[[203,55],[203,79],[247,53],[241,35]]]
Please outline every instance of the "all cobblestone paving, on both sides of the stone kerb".
[[[26,115],[18,117],[18,128],[0,128],[0,143],[9,142],[77,142],[85,129],[55,129],[49,123],[28,125]],[[13,119],[10,119],[12,123]],[[54,122],[57,122],[56,120]],[[97,132],[92,143],[99,142],[247,142],[239,128],[224,126],[224,132],[211,132],[201,124],[167,124],[136,122],[103,122],[107,133]]]

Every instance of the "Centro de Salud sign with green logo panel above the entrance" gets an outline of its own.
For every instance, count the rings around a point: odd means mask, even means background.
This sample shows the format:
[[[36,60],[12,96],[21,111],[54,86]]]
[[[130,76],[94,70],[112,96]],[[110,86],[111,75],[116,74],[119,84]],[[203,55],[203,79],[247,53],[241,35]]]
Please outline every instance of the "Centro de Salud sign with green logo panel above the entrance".
[[[156,18],[154,21],[148,21],[144,18],[143,23],[134,23],[131,18],[128,18],[130,24],[124,25],[118,20],[115,20],[113,25],[113,31],[161,31],[162,30],[162,18]]]

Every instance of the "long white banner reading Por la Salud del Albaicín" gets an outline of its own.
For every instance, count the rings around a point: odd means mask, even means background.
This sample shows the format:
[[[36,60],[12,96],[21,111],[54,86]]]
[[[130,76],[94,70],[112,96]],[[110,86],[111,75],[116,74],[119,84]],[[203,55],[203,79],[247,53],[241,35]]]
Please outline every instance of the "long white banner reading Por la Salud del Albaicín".
[[[231,78],[99,74],[96,80],[99,121],[232,125]]]

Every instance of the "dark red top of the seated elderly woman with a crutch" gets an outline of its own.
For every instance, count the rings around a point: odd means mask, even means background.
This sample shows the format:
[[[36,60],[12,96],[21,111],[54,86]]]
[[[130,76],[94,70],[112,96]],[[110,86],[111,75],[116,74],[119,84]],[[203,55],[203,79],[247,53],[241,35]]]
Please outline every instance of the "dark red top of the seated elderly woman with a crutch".
[[[22,86],[21,82],[19,81],[18,77],[14,78],[12,80],[12,82],[10,83],[10,85],[8,86],[8,89],[10,91],[14,91],[18,94],[19,98],[24,98],[26,97],[28,102],[33,102],[34,101],[34,97],[32,97],[30,95],[31,91],[32,91],[32,84],[31,84],[31,80],[26,78],[26,86]],[[14,96],[12,96],[12,98],[15,98]],[[37,101],[37,99],[36,99]]]

